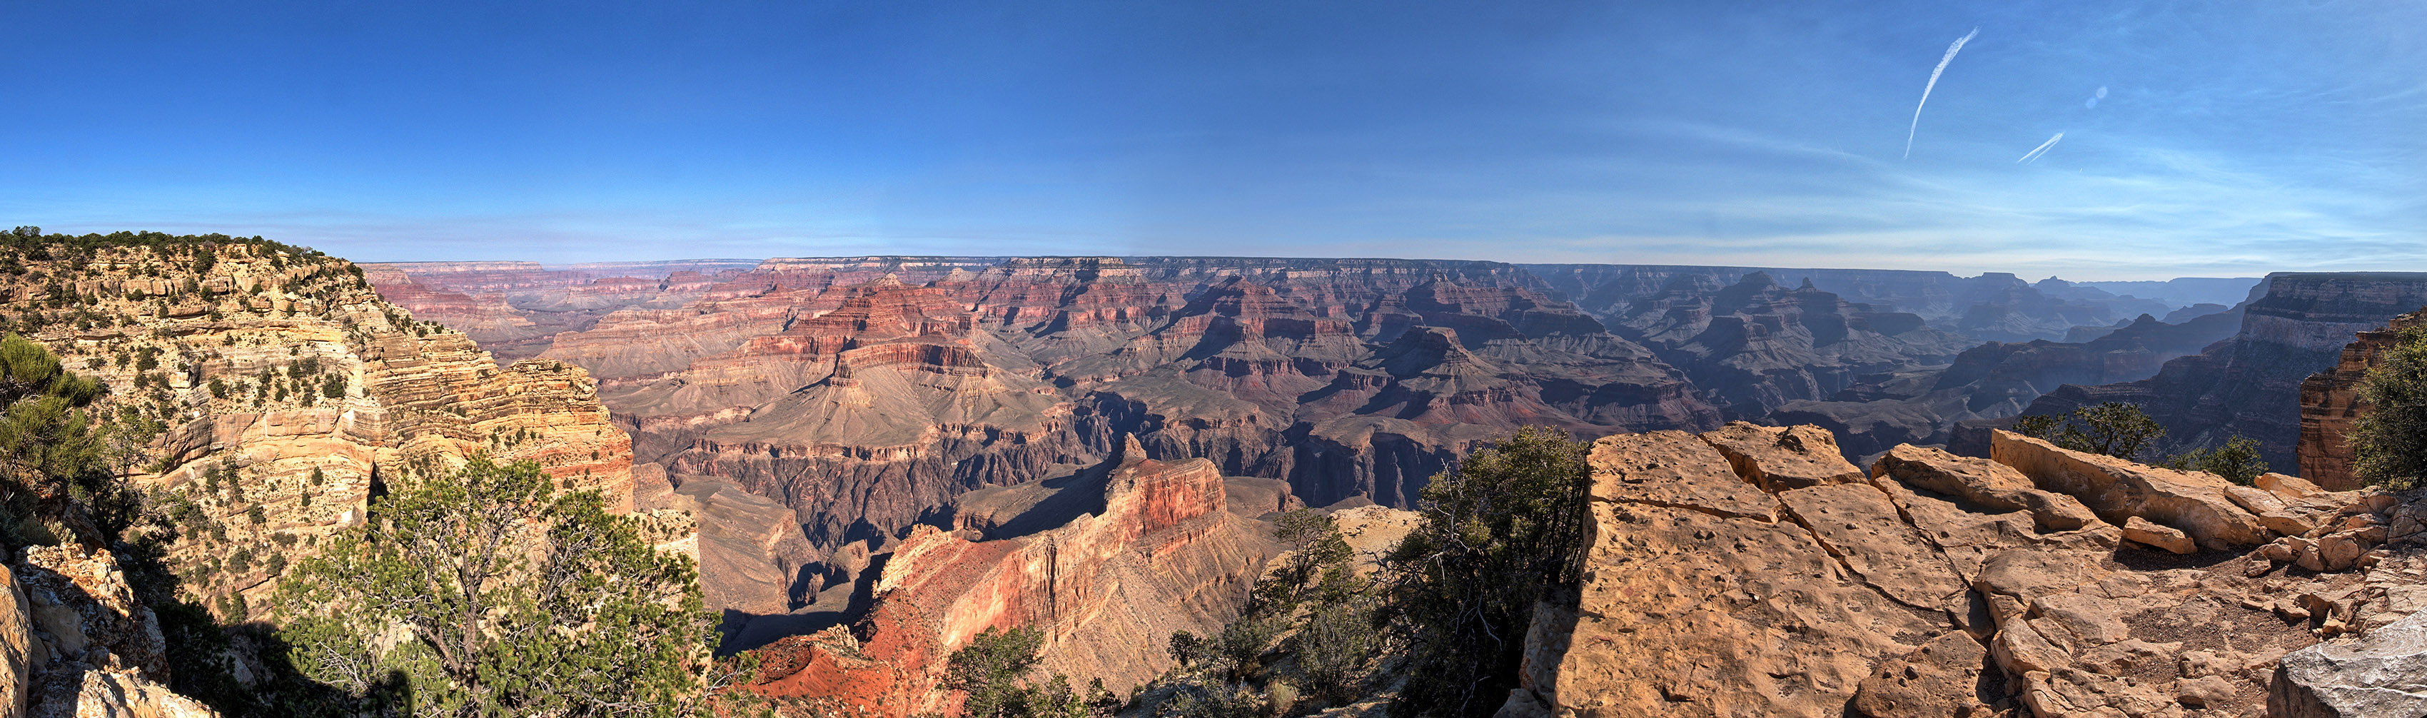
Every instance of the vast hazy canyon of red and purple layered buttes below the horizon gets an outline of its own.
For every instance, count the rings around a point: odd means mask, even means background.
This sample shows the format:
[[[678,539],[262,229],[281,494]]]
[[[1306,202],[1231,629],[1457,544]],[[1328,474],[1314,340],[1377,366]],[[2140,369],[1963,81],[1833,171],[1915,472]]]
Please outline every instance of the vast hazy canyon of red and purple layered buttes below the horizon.
[[[820,594],[866,582],[871,555],[939,524],[956,495],[1095,466],[1119,437],[1155,458],[1284,480],[1308,505],[1408,507],[1427,475],[1519,424],[1597,437],[1796,417],[1847,432],[1849,458],[1944,444],[1959,422],[2010,417],[2061,383],[2143,378],[2238,318],[1944,272],[738,264],[629,264],[621,279],[529,262],[366,264],[366,277],[417,315],[587,369],[646,471],[728,497],[699,517],[704,536],[748,536],[701,543],[711,565],[750,577],[711,580],[738,633],[765,633],[745,628],[755,616],[840,619],[813,606]],[[2235,281],[2209,284],[2187,291]],[[2145,313],[2182,318],[2131,320]],[[2053,342],[2082,330],[2097,337]],[[1997,337],[2031,344],[1980,344]],[[767,507],[740,509],[757,502],[745,497],[791,509],[798,541]]]

